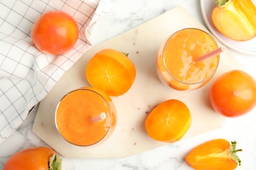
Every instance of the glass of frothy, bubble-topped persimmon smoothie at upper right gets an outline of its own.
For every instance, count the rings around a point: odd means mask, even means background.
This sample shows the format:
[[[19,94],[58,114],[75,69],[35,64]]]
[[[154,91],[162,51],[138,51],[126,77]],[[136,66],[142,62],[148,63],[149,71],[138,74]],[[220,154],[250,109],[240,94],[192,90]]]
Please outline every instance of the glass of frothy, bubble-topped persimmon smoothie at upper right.
[[[156,71],[163,84],[175,90],[195,90],[204,86],[217,71],[219,54],[197,61],[217,49],[217,42],[205,31],[181,29],[164,41],[156,56]]]

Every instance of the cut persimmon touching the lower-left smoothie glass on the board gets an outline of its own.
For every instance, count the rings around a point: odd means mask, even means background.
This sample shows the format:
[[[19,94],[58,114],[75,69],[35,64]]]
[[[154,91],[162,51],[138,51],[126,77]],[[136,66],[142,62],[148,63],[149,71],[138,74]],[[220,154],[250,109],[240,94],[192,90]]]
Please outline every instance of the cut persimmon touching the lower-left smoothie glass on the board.
[[[136,69],[133,61],[122,52],[104,49],[91,58],[85,75],[94,88],[110,96],[118,96],[131,88]]]

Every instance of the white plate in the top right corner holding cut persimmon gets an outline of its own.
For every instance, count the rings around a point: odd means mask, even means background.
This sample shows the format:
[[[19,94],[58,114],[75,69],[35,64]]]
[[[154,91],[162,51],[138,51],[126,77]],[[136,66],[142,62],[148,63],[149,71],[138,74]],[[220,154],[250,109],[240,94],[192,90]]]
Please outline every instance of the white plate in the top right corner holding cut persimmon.
[[[252,2],[256,5],[256,0],[252,0]],[[242,52],[244,54],[256,55],[256,38],[244,42],[234,41],[222,35],[215,28],[211,20],[211,12],[213,11],[214,7],[216,7],[215,0],[201,0],[203,20],[205,21],[205,24],[207,25],[209,31],[211,31],[211,33],[215,35],[215,37],[219,39],[219,41],[221,41],[229,48],[232,48],[233,50]]]

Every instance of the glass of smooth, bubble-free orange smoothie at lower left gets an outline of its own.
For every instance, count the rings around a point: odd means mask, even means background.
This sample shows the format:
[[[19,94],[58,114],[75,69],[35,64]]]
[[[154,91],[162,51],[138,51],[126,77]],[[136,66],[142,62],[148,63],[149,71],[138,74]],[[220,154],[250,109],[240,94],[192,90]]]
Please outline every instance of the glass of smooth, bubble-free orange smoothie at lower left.
[[[79,88],[62,97],[55,124],[68,143],[98,146],[116,127],[116,108],[106,93],[91,87]]]

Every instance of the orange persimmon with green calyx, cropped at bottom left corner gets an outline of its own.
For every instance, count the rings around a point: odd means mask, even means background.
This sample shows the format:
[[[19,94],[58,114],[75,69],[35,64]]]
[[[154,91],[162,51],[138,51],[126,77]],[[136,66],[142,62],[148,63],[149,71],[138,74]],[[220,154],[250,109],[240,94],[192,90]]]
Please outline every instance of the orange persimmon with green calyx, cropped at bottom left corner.
[[[13,154],[3,167],[3,170],[14,169],[61,170],[62,159],[46,146],[28,148]]]

